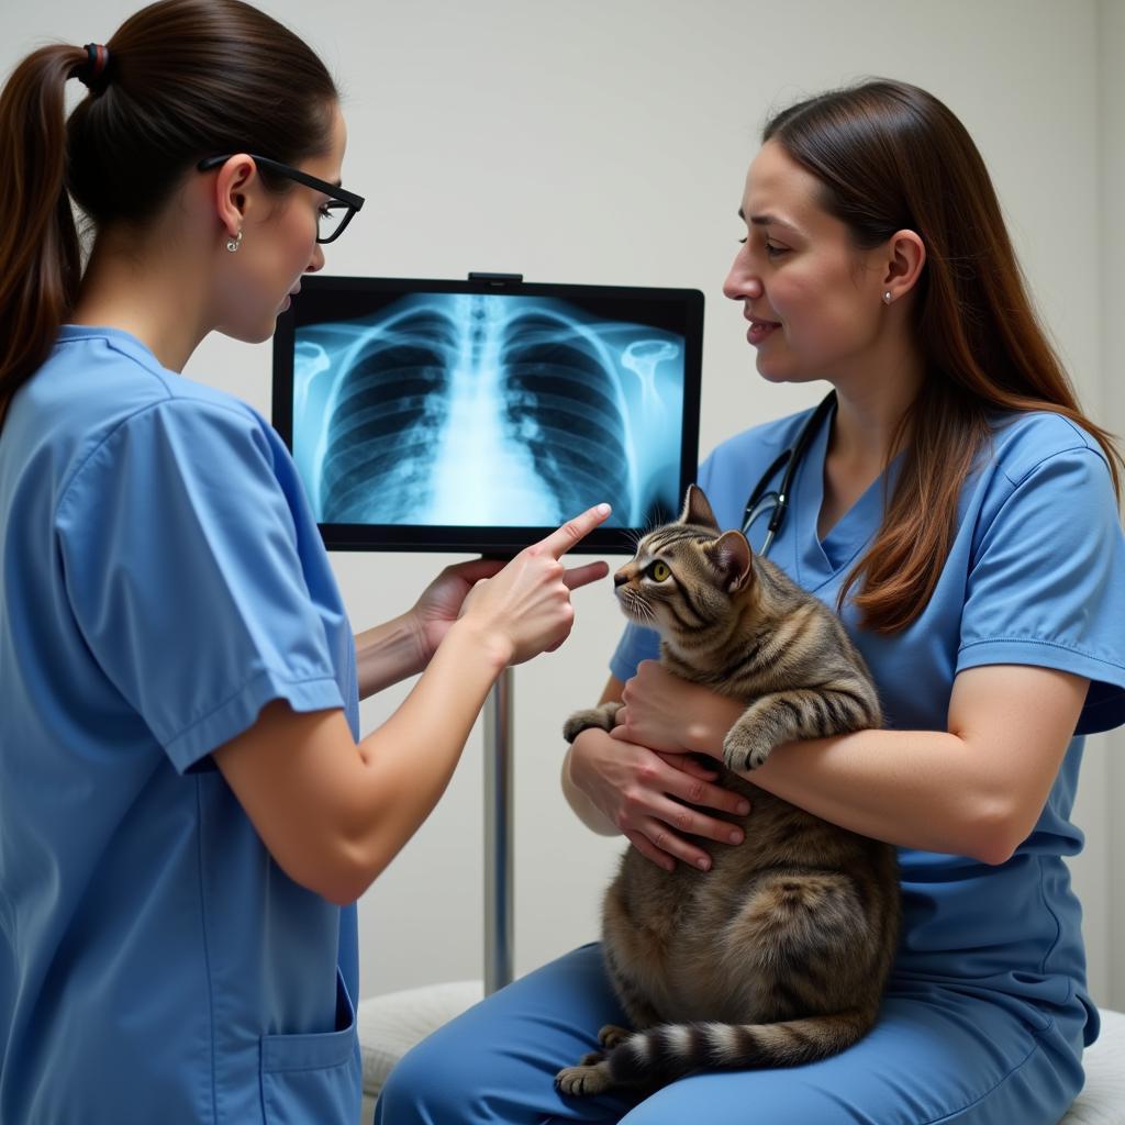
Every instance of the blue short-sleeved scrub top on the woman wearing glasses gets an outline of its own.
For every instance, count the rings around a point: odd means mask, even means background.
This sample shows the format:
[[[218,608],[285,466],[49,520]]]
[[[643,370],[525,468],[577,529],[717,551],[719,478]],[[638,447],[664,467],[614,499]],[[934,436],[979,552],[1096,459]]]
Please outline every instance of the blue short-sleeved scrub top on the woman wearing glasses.
[[[245,404],[66,327],[0,435],[0,1120],[358,1119],[354,907],[212,750],[343,708],[354,640]]]

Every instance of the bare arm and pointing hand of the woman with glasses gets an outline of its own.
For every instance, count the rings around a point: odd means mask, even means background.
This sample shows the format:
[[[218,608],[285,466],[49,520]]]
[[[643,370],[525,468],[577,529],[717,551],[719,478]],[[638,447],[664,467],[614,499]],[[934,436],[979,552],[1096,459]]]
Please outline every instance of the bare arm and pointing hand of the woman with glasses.
[[[339,710],[284,702],[215,752],[215,762],[278,865],[340,903],[354,901],[444,792],[488,690],[508,664],[557,648],[570,590],[605,574],[559,557],[601,523],[592,508],[477,583],[402,706],[359,745]]]

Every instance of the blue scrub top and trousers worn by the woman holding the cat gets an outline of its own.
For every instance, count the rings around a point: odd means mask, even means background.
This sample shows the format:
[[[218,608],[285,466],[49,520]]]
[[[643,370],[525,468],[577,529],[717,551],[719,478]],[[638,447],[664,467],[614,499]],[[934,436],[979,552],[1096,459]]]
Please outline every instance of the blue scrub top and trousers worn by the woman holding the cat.
[[[750,489],[806,416],[744,433],[701,467],[722,526],[740,526]],[[835,609],[878,531],[883,483],[820,540],[827,436],[822,430],[802,461],[770,557]],[[600,1026],[626,1018],[593,944],[415,1047],[384,1087],[376,1125],[1054,1125],[1062,1117],[1098,1025],[1065,857],[1082,845],[1070,822],[1082,735],[1125,720],[1125,542],[1100,449],[1065,420],[997,417],[982,461],[962,492],[953,548],[921,616],[879,637],[860,631],[845,606],[888,722],[947,729],[954,677],[975,665],[1059,668],[1089,677],[1090,690],[1043,814],[1011,858],[990,866],[900,849],[902,937],[872,1033],[807,1066],[701,1070],[651,1094],[568,1097],[554,1084],[559,1068],[594,1048]],[[755,525],[752,543],[764,533]],[[657,652],[656,634],[630,626],[612,670],[629,680]]]

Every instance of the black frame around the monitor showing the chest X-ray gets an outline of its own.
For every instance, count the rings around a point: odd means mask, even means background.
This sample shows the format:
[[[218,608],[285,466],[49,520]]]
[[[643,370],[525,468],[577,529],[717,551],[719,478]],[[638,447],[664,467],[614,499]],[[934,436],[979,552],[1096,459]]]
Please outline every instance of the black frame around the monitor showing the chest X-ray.
[[[520,296],[583,298],[630,298],[649,302],[678,302],[684,306],[684,425],[680,451],[680,495],[695,479],[699,458],[700,381],[703,364],[703,294],[698,289],[672,289],[641,286],[550,285],[510,280],[503,276],[465,281],[424,278],[362,278],[309,276],[302,280],[302,292],[292,306],[278,317],[273,334],[272,423],[287,448],[292,450],[292,359],[296,339],[296,310],[308,294],[332,292],[504,292]],[[596,503],[602,497],[591,497]],[[577,515],[578,513],[574,513]],[[542,539],[554,528],[479,528],[474,525],[353,524],[321,523],[321,536],[328,550],[338,551],[443,551],[510,557]],[[576,548],[584,555],[632,555],[637,538],[646,528],[597,528]]]

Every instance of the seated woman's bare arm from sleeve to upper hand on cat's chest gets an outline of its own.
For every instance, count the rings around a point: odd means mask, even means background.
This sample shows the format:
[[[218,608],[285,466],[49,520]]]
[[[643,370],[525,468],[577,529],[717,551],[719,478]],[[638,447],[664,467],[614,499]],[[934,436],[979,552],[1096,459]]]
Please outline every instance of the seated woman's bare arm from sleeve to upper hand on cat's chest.
[[[1074,732],[1089,681],[989,665],[957,675],[948,730],[863,730],[792,741],[745,776],[876,839],[1002,863],[1034,827]],[[742,706],[645,662],[610,736],[721,760]]]

